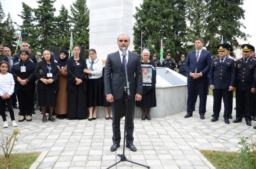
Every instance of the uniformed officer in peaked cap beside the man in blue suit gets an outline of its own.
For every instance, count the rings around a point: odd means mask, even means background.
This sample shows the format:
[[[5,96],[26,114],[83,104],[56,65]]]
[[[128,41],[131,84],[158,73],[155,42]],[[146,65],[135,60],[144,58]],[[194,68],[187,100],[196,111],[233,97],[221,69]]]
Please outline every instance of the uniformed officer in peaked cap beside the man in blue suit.
[[[219,120],[219,112],[221,111],[221,99],[224,102],[224,122],[230,124],[229,105],[233,99],[230,98],[230,93],[233,93],[236,81],[236,68],[234,59],[227,57],[227,45],[219,44],[219,58],[213,59],[210,70],[209,84],[214,90],[213,95],[213,119],[212,122]]]

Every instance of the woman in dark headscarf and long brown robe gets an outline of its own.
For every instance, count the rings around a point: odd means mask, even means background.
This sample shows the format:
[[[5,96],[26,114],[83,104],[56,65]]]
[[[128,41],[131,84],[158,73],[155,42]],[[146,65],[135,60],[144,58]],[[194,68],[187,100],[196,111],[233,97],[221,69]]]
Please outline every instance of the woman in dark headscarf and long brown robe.
[[[57,103],[55,107],[55,114],[57,118],[63,119],[67,116],[67,60],[69,59],[69,53],[66,50],[60,51],[60,57],[58,57],[58,70],[60,70],[59,90]]]

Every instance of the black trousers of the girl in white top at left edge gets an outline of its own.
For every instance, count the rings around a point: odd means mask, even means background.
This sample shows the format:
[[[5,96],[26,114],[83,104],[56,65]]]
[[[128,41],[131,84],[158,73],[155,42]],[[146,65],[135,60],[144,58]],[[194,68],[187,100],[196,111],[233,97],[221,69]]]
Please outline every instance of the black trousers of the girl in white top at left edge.
[[[5,117],[5,107],[7,105],[7,109],[10,112],[10,116],[12,120],[15,120],[14,118],[14,110],[12,109],[12,96],[9,99],[2,99],[2,97],[0,97],[0,114],[3,118],[3,122],[6,121],[6,117]]]

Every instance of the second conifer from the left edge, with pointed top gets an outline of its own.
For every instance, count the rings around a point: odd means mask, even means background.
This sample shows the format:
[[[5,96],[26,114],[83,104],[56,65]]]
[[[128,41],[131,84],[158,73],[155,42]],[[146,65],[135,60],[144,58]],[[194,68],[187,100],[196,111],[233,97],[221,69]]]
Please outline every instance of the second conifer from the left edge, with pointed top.
[[[33,49],[39,46],[37,41],[37,32],[35,28],[34,11],[29,5],[22,2],[22,11],[20,18],[22,19],[22,25],[20,26],[20,32],[22,34],[22,41],[27,41]]]

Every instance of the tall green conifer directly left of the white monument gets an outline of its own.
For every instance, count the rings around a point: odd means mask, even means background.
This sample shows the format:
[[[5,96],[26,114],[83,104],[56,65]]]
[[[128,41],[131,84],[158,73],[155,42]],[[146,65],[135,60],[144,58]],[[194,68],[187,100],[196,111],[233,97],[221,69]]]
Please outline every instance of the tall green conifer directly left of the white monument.
[[[89,9],[86,0],[77,0],[71,5],[71,23],[75,45],[89,49]]]

